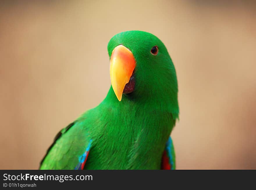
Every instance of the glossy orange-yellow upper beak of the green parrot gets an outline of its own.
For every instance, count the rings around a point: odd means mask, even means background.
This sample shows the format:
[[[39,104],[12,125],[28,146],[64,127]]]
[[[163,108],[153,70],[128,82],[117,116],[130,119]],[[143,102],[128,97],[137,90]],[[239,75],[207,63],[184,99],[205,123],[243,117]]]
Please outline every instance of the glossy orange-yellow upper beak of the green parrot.
[[[112,51],[110,58],[110,79],[115,95],[119,101],[130,80],[132,72],[135,68],[136,61],[133,54],[125,46],[116,46]]]

